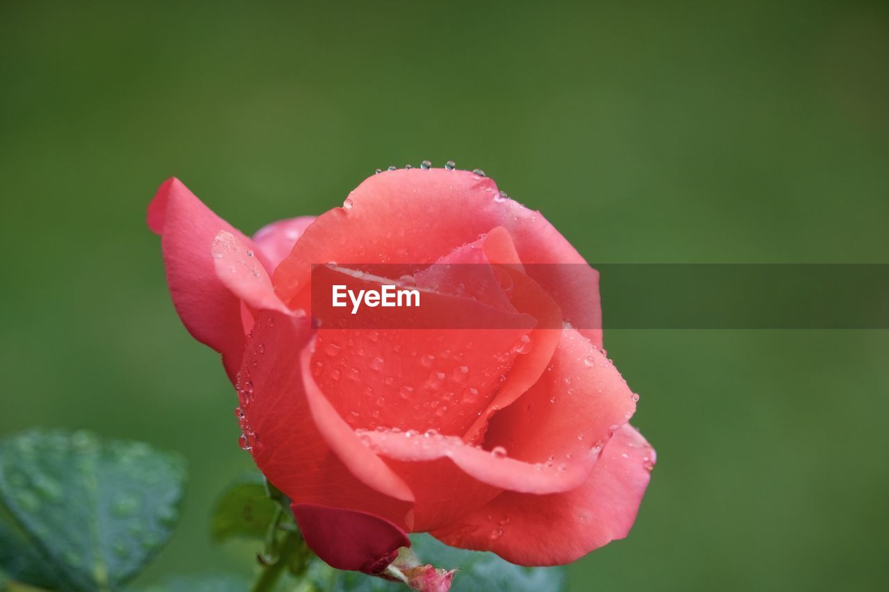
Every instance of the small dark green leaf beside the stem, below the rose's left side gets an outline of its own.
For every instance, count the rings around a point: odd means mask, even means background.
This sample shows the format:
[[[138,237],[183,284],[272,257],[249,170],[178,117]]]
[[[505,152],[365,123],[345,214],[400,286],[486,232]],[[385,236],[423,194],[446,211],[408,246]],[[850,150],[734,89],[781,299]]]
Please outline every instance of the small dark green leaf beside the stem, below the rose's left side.
[[[268,497],[265,482],[258,474],[245,475],[231,484],[216,502],[212,516],[212,537],[262,539],[278,506]]]

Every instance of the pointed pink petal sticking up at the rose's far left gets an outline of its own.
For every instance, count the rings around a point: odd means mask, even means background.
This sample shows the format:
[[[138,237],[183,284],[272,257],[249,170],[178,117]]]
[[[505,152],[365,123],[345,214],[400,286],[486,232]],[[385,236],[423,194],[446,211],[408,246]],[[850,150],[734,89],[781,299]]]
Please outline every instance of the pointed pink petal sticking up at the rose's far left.
[[[222,354],[230,379],[241,363],[241,303],[216,276],[210,254],[225,230],[255,249],[251,240],[214,214],[178,179],[165,180],[148,204],[148,227],[161,235],[173,306],[196,340]]]

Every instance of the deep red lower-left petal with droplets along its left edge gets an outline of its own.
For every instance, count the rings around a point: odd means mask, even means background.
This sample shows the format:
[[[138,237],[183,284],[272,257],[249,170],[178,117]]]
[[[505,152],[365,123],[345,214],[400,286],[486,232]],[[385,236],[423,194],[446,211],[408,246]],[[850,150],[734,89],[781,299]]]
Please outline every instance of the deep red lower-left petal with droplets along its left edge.
[[[253,460],[294,503],[372,511],[409,529],[413,499],[404,482],[375,455],[355,449],[355,460],[374,473],[373,485],[365,484],[318,431],[300,370],[300,351],[310,335],[308,319],[272,311],[256,317],[239,383],[242,428],[255,434]]]

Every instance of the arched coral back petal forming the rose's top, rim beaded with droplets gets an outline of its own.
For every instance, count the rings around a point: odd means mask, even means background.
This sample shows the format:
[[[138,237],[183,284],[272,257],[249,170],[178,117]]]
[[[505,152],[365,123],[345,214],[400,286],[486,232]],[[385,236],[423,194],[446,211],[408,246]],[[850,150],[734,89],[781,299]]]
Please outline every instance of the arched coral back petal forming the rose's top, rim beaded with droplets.
[[[495,196],[493,180],[468,171],[410,169],[373,175],[349,194],[347,207],[322,214],[306,228],[299,248],[276,268],[276,291],[295,307],[313,263],[428,265],[502,226],[525,264],[580,264],[535,266],[529,275],[556,300],[566,321],[601,346],[599,294],[589,292],[598,285],[597,271],[540,212]]]

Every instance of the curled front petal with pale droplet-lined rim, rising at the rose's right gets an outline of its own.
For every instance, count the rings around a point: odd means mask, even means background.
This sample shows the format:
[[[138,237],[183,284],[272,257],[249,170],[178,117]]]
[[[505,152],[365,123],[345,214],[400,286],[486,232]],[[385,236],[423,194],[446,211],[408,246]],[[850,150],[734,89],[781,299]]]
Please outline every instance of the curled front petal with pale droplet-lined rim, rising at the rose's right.
[[[538,495],[580,486],[611,433],[632,415],[633,399],[613,364],[589,340],[566,329],[551,370],[517,402],[493,416],[486,450],[439,434],[359,431],[358,435],[411,488],[415,528],[420,530],[459,516],[471,505],[465,499],[469,492],[481,497],[493,491],[485,485]],[[453,495],[464,491],[467,496]]]

